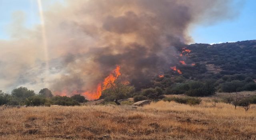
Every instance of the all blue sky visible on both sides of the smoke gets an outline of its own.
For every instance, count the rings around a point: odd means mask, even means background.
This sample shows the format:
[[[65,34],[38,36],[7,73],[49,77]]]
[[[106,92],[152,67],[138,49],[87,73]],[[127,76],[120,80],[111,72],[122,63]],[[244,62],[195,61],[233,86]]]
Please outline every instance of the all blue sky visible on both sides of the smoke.
[[[52,4],[63,3],[62,0],[42,0],[47,10]],[[256,39],[256,0],[244,0],[240,14],[232,20],[224,20],[214,25],[195,25],[189,30],[193,43],[236,42]],[[8,40],[15,13],[24,13],[25,26],[32,28],[40,24],[37,0],[0,0],[0,40]]]

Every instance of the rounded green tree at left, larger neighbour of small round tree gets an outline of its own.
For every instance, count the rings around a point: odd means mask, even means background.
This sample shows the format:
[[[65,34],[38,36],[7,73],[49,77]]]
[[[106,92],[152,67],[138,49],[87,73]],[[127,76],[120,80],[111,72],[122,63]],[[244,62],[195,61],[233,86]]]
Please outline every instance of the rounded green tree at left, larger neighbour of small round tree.
[[[12,90],[12,96],[20,98],[22,102],[24,102],[26,98],[34,95],[34,90],[28,90],[28,88],[22,86]]]

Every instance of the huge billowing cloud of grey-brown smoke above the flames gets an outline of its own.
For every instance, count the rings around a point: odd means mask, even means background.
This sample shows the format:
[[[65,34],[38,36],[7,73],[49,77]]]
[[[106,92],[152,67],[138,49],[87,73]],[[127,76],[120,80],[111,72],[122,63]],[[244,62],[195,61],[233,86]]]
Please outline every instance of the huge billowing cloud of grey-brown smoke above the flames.
[[[232,0],[67,0],[44,12],[48,52],[40,25],[22,28],[16,14],[13,39],[0,40],[0,89],[93,91],[116,65],[135,86],[147,83],[192,41],[191,24],[232,19],[239,9]]]

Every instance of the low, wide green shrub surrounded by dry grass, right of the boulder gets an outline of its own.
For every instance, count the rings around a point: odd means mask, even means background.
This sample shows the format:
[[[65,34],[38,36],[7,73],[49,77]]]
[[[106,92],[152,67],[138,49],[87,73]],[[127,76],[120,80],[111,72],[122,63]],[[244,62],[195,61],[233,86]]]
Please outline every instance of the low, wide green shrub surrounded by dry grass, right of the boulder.
[[[196,105],[200,104],[202,100],[200,98],[195,98],[195,97],[172,97],[172,98],[163,98],[163,101],[174,101],[180,104],[189,104],[189,105]]]

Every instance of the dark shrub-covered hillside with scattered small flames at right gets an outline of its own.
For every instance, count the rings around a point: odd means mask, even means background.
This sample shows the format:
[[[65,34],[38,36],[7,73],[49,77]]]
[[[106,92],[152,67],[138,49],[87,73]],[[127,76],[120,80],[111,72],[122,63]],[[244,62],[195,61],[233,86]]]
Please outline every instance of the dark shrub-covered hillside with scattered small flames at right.
[[[218,92],[256,90],[256,40],[190,44],[178,50],[176,65],[154,78],[154,86],[166,94],[206,96],[209,86]]]

